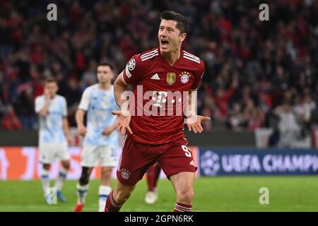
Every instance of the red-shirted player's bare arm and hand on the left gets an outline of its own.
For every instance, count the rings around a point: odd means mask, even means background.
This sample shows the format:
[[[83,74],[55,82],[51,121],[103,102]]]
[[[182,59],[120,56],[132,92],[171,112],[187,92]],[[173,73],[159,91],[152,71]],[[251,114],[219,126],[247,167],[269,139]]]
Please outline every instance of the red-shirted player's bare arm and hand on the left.
[[[131,115],[129,114],[128,106],[124,106],[124,103],[126,103],[127,100],[122,95],[127,90],[128,85],[124,82],[122,76],[123,72],[119,74],[116,81],[114,82],[114,98],[117,102],[117,105],[120,107],[120,110],[114,111],[112,114],[117,115],[117,121],[115,124],[116,130],[120,131],[120,133],[124,135],[126,131],[131,134],[132,131],[129,126]],[[123,107],[126,109],[123,109]]]

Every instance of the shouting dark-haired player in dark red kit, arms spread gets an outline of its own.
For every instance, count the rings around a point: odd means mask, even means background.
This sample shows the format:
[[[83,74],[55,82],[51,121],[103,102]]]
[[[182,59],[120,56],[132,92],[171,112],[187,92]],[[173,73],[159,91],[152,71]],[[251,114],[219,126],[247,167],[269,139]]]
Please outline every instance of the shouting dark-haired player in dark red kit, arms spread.
[[[195,115],[193,111],[188,114],[182,110],[182,114],[177,114],[180,108],[183,109],[177,106],[188,102],[193,108],[192,91],[199,87],[204,62],[181,48],[187,36],[184,16],[164,11],[160,19],[159,47],[134,55],[114,83],[114,97],[121,109],[113,114],[117,115],[117,131],[126,132],[126,137],[117,170],[117,184],[107,197],[106,212],[119,211],[136,183],[155,162],[163,168],[175,189],[174,210],[192,211],[197,167],[184,138],[184,116],[191,119],[187,121],[187,127],[194,133],[201,133],[201,121],[210,118]],[[129,96],[129,110],[126,109],[127,100],[123,98],[128,85],[135,85],[134,97],[137,96],[136,100]],[[172,92],[174,95],[171,96]],[[177,97],[178,92],[189,95]],[[151,100],[140,100],[140,94],[150,96]],[[132,109],[131,105],[134,105]],[[160,114],[155,114],[156,111]]]

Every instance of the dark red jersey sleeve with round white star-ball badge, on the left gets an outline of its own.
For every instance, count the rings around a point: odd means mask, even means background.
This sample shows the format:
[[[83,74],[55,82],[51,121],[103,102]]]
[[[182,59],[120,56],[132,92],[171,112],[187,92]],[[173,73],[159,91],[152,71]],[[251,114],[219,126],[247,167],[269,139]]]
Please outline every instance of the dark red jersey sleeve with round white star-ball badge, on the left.
[[[126,64],[123,73],[124,82],[128,85],[136,85],[143,77],[143,63],[139,55],[134,55]]]

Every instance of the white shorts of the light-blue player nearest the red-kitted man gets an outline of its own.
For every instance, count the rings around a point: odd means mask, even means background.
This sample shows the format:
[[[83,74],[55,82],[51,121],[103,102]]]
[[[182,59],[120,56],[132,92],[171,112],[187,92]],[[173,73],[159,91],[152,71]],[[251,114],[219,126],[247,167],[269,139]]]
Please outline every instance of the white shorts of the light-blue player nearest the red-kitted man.
[[[82,167],[114,167],[116,162],[115,146],[85,145],[82,150]]]

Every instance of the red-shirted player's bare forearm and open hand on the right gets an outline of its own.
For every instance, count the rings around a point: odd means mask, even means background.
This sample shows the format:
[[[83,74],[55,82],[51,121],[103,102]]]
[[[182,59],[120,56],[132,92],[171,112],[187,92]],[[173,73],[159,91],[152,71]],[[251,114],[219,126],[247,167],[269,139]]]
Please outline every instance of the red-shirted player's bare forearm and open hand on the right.
[[[192,111],[192,99],[193,95],[196,90],[189,91],[189,109]],[[210,117],[196,115],[193,112],[187,116],[189,123],[187,123],[189,131],[194,131],[194,133],[202,133],[204,131],[203,127],[201,126],[201,121],[208,121],[211,120]]]

